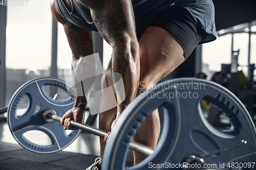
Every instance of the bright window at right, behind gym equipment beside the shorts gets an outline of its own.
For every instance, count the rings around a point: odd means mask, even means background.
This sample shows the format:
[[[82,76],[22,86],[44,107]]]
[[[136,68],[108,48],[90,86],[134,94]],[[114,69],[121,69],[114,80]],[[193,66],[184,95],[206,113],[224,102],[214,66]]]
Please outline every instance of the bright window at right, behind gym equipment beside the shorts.
[[[254,22],[253,22],[254,23]],[[255,24],[255,23],[254,23]],[[251,41],[250,41],[250,64],[256,63],[256,25],[251,26]],[[249,50],[249,23],[244,23],[239,26],[234,26],[229,29],[220,30],[217,32],[219,37],[217,40],[203,44],[202,48],[202,71],[207,74],[208,79],[216,71],[221,70],[221,64],[230,64],[232,50],[238,51],[238,70],[242,70],[244,75],[248,76],[248,50]],[[232,48],[233,35],[233,49]],[[256,71],[255,71],[256,73]]]

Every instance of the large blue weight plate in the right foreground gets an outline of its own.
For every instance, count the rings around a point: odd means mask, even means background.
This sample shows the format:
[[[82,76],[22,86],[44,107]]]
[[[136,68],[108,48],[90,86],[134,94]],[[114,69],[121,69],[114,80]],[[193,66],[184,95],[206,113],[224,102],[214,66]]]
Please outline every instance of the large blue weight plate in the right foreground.
[[[231,123],[231,129],[220,131],[212,127],[203,115],[201,100],[222,110]],[[179,169],[179,164],[189,155],[201,158],[242,140],[247,143],[206,157],[204,162],[216,164],[218,168],[224,163],[225,169],[228,169],[229,162],[255,162],[255,127],[239,99],[217,83],[179,78],[143,92],[125,108],[106,143],[104,169],[126,169],[129,142],[146,116],[160,106],[164,111],[164,123],[157,147],[152,155],[129,169],[160,169],[157,164]]]

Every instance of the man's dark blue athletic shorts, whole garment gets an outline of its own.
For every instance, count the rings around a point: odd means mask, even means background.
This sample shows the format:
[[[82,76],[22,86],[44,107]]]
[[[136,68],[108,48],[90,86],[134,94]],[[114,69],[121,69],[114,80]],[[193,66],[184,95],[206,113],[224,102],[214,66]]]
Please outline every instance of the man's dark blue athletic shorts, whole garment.
[[[170,0],[161,4],[163,1],[145,1],[134,6],[138,39],[146,28],[160,27],[180,43],[185,59],[198,44],[216,39],[215,9],[211,0]]]

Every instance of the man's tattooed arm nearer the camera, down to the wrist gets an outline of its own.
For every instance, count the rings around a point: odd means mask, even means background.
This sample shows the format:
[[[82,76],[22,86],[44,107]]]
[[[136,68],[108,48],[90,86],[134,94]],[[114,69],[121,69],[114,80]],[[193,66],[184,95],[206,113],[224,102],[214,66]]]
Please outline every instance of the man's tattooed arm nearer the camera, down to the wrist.
[[[91,10],[93,21],[101,36],[112,46],[112,70],[122,75],[125,100],[118,103],[118,113],[133,101],[140,75],[139,43],[131,0],[80,0]],[[113,82],[118,78],[113,74]],[[118,89],[118,88],[116,88]],[[117,98],[123,97],[117,90]]]

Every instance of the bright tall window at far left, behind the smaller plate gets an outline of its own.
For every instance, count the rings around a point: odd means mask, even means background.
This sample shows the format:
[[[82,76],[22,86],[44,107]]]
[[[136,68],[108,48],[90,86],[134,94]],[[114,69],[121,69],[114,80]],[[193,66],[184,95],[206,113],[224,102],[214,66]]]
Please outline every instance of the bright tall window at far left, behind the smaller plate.
[[[27,81],[50,76],[52,14],[49,1],[7,8],[6,105]]]

